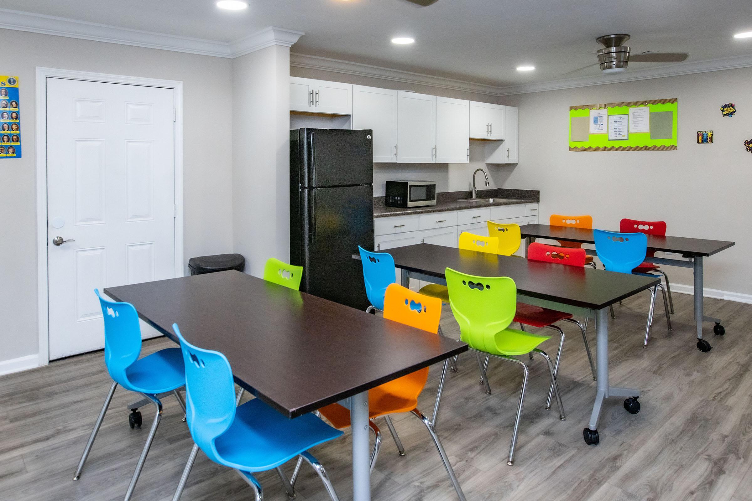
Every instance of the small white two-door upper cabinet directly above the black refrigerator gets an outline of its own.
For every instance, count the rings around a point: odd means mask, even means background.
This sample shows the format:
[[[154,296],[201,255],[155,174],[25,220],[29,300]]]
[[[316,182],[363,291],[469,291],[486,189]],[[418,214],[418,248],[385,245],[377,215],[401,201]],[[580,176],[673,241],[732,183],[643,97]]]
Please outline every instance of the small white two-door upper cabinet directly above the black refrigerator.
[[[290,111],[353,114],[353,84],[290,77]]]

